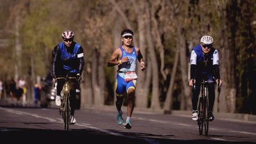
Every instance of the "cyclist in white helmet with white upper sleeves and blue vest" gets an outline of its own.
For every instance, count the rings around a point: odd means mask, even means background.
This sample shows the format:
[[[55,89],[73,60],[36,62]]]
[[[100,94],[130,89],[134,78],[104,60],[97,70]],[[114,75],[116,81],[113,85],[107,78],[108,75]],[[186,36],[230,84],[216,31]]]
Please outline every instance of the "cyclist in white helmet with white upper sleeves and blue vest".
[[[214,91],[214,81],[219,86],[222,85],[220,80],[219,71],[219,53],[218,50],[212,47],[213,38],[211,36],[203,36],[201,38],[201,44],[195,46],[190,55],[190,81],[189,86],[193,86],[193,81],[195,83],[195,91],[193,91],[191,101],[193,106],[193,112],[191,118],[193,121],[197,121],[197,102],[198,96],[201,91],[201,82],[203,79],[208,81],[207,85],[209,91],[209,120],[213,121],[214,116],[212,113],[215,91]]]

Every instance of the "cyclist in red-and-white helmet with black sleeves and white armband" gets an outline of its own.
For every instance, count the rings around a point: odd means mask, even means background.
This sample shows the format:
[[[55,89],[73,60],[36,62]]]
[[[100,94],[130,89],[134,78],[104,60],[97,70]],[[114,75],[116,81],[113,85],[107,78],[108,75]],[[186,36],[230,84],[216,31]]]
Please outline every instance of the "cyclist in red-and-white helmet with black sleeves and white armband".
[[[74,42],[73,31],[66,30],[62,33],[63,42],[56,45],[52,51],[52,82],[57,77],[77,77],[81,81],[81,74],[84,68],[84,50],[82,46]],[[75,105],[76,105],[76,79],[70,79],[70,124],[75,124]],[[60,93],[65,84],[65,79],[58,79],[57,96],[55,103],[61,105]]]

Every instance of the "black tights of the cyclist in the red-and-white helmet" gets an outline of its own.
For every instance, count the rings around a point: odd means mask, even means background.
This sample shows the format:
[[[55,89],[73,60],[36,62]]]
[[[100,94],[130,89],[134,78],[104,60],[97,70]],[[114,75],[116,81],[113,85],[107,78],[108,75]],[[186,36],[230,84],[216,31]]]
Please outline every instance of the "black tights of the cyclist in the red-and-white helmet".
[[[60,75],[58,77],[65,77],[65,75]],[[76,73],[74,74],[69,74],[69,77],[76,77]],[[69,79],[69,93],[70,93],[70,115],[75,114],[75,106],[76,106],[76,87],[77,87],[77,81],[76,79]],[[60,95],[63,85],[65,84],[65,79],[58,79],[58,84],[57,84],[57,95]]]

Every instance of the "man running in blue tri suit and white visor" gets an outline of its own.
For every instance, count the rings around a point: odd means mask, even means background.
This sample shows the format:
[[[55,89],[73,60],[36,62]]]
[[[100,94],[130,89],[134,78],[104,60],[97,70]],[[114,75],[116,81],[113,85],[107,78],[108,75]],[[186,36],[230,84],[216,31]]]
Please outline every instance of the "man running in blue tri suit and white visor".
[[[143,57],[140,52],[139,47],[132,46],[133,32],[130,29],[125,29],[121,33],[122,46],[117,47],[113,54],[111,55],[107,66],[112,67],[118,65],[117,77],[116,77],[116,108],[118,111],[116,122],[121,125],[123,123],[123,110],[122,104],[124,100],[125,90],[128,95],[128,105],[127,105],[127,118],[125,129],[131,129],[130,118],[132,116],[132,111],[134,108],[135,99],[135,87],[137,83],[137,75],[135,74],[136,61],[140,62],[141,70],[145,70],[145,63],[143,62]],[[131,79],[125,79],[125,71],[133,71],[130,75]],[[134,78],[134,79],[133,79]],[[126,81],[127,80],[127,81]]]

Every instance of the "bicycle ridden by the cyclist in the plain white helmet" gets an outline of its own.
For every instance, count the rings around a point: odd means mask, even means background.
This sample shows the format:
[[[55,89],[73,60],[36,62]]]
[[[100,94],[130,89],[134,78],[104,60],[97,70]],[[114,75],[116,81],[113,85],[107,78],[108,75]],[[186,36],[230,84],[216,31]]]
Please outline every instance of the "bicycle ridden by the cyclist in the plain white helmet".
[[[201,82],[201,97],[199,98],[199,105],[197,109],[197,115],[198,115],[198,128],[199,128],[199,134],[203,134],[203,127],[205,136],[208,136],[209,132],[209,101],[207,97],[207,84],[208,81],[205,81],[203,79],[203,82]],[[218,81],[218,92],[220,92],[220,82]],[[193,81],[193,90],[195,90],[195,83]]]

